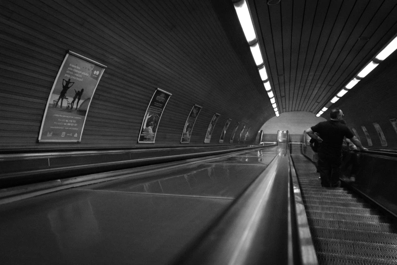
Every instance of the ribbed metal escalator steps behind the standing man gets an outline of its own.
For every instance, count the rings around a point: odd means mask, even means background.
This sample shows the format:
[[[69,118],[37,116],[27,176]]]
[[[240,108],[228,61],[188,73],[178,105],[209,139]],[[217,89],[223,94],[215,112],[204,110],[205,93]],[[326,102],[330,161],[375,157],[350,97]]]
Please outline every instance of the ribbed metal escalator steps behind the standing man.
[[[319,264],[397,264],[397,225],[346,188],[323,188],[314,164],[291,155]]]

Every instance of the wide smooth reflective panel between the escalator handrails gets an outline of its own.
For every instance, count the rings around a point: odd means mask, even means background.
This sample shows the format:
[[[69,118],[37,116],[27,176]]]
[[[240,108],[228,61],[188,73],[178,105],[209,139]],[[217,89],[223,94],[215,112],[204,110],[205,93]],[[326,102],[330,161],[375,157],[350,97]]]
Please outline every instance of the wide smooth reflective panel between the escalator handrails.
[[[1,205],[1,263],[173,262],[266,167],[192,164]]]

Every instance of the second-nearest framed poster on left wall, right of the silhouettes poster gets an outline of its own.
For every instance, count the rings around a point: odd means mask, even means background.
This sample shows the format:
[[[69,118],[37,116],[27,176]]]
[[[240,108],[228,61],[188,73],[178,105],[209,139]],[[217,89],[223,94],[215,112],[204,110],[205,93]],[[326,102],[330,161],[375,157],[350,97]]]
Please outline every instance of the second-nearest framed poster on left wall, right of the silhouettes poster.
[[[150,100],[148,109],[143,117],[140,126],[138,143],[154,143],[156,139],[157,128],[159,127],[161,115],[165,105],[172,94],[157,88]]]

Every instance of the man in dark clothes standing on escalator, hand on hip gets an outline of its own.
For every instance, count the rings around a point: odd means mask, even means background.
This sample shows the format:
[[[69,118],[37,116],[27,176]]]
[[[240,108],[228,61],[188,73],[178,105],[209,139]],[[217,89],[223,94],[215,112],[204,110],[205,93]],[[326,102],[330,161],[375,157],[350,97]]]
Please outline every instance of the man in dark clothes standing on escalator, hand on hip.
[[[342,110],[333,109],[330,113],[330,120],[319,122],[306,130],[306,134],[317,139],[320,143],[318,147],[318,169],[321,186],[323,187],[340,187],[341,185],[339,177],[344,137],[350,139],[360,150],[368,150],[363,147],[350,129],[340,122],[340,120],[343,120],[343,116]],[[321,138],[316,136],[314,132],[318,132]]]

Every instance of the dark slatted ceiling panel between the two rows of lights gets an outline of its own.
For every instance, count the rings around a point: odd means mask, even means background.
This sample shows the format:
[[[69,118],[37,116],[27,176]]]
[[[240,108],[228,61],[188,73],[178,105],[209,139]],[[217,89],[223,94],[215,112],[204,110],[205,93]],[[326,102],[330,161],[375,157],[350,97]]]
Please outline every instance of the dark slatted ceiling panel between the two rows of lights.
[[[267,2],[277,1],[247,0],[281,113],[317,113],[397,32],[393,0]],[[234,19],[238,20],[236,14]],[[234,39],[244,38],[241,27],[226,31],[233,30],[239,35]],[[243,50],[256,67],[249,49]],[[370,78],[371,74],[359,84]],[[359,84],[345,96],[359,92]]]

